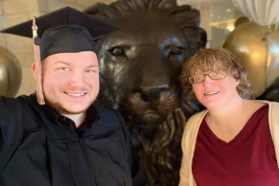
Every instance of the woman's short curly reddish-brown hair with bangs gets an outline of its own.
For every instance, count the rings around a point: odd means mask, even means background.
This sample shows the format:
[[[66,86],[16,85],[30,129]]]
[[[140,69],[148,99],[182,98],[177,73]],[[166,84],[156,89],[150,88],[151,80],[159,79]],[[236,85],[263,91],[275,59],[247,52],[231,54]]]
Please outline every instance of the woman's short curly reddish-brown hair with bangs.
[[[235,79],[239,79],[237,92],[243,99],[251,99],[253,91],[247,80],[247,71],[240,60],[230,51],[224,48],[201,49],[189,58],[182,67],[181,82],[186,91],[194,96],[192,84],[188,77],[197,72],[226,69]]]

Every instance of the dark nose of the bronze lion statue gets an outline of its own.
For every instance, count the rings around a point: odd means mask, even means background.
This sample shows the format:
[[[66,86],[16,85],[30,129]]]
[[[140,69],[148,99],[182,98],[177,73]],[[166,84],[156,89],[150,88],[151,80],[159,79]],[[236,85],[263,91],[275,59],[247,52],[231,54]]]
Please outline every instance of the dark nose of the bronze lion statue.
[[[146,102],[153,102],[159,100],[161,92],[169,88],[168,85],[161,85],[157,87],[144,87],[141,86],[137,92],[140,93],[140,98]]]

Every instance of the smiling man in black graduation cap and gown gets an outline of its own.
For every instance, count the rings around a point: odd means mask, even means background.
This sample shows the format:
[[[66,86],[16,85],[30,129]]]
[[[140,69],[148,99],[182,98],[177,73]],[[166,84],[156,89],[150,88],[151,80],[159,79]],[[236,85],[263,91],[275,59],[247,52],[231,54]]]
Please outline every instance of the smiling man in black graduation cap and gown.
[[[41,37],[34,38],[36,93],[0,97],[0,185],[132,185],[125,122],[92,104],[99,66],[91,37],[116,29],[70,7],[33,21]],[[31,26],[2,32],[32,37]]]

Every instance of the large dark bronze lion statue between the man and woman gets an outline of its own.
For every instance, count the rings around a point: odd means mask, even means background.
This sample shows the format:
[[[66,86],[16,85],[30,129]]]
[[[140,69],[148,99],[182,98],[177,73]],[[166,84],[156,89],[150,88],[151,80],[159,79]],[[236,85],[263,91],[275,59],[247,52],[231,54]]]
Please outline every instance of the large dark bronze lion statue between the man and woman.
[[[177,185],[183,127],[197,112],[179,82],[181,66],[206,44],[200,14],[175,0],[97,3],[87,14],[120,30],[94,38],[100,64],[98,104],[125,117],[134,185]]]

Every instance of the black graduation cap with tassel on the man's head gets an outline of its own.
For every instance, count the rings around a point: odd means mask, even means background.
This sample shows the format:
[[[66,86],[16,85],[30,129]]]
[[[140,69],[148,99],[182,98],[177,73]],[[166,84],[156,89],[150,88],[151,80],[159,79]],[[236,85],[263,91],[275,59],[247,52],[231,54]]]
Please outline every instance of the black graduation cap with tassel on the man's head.
[[[92,37],[117,30],[116,27],[91,15],[71,7],[64,7],[0,32],[33,38],[36,95],[38,103],[43,105],[45,102],[42,93],[41,60],[58,53],[81,51],[96,53]]]

